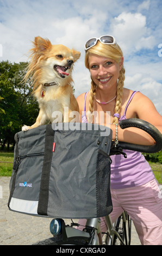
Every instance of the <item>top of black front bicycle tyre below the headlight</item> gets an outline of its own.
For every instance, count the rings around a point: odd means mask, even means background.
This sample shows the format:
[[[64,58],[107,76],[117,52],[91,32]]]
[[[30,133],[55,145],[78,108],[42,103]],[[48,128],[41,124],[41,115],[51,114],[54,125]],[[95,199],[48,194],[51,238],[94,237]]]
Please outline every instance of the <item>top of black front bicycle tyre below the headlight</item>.
[[[67,241],[59,239],[59,237],[50,237],[48,239],[34,243],[33,245],[86,245],[86,241],[82,238],[71,237]]]

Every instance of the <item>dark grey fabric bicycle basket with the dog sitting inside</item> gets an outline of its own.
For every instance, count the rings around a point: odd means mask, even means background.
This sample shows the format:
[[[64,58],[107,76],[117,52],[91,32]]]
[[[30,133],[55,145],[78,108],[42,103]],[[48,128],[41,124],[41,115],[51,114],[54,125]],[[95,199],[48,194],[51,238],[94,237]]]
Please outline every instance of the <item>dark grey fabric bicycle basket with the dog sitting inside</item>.
[[[110,214],[112,131],[94,124],[77,123],[79,129],[73,130],[68,125],[16,133],[10,210],[61,218]]]

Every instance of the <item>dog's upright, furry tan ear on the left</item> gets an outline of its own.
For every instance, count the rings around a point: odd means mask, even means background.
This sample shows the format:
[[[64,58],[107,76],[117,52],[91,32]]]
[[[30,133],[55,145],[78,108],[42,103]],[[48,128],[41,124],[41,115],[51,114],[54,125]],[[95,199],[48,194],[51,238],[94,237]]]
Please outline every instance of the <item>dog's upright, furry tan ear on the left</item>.
[[[51,49],[52,44],[48,39],[43,39],[40,36],[36,36],[34,40],[36,52],[43,54],[47,49]]]

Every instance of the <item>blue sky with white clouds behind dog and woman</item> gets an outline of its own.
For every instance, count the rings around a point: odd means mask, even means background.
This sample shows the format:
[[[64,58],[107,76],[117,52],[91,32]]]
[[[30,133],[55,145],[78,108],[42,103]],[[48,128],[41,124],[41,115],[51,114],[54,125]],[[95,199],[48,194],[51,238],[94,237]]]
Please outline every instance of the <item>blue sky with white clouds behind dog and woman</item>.
[[[0,0],[0,61],[27,61],[38,35],[75,48],[81,52],[73,70],[78,96],[90,88],[85,41],[114,35],[124,54],[124,87],[140,90],[162,114],[161,11],[161,0]]]

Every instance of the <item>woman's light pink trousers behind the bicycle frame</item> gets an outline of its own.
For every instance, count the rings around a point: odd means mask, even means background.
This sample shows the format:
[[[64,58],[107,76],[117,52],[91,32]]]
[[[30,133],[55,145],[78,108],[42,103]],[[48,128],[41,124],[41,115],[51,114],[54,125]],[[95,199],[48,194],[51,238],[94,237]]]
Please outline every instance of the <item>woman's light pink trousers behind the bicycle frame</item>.
[[[162,192],[154,179],[145,185],[111,190],[113,222],[126,210],[132,218],[142,245],[162,245]],[[104,218],[101,218],[101,230],[107,231]],[[86,220],[79,220],[85,225]],[[81,226],[79,229],[83,229]]]

